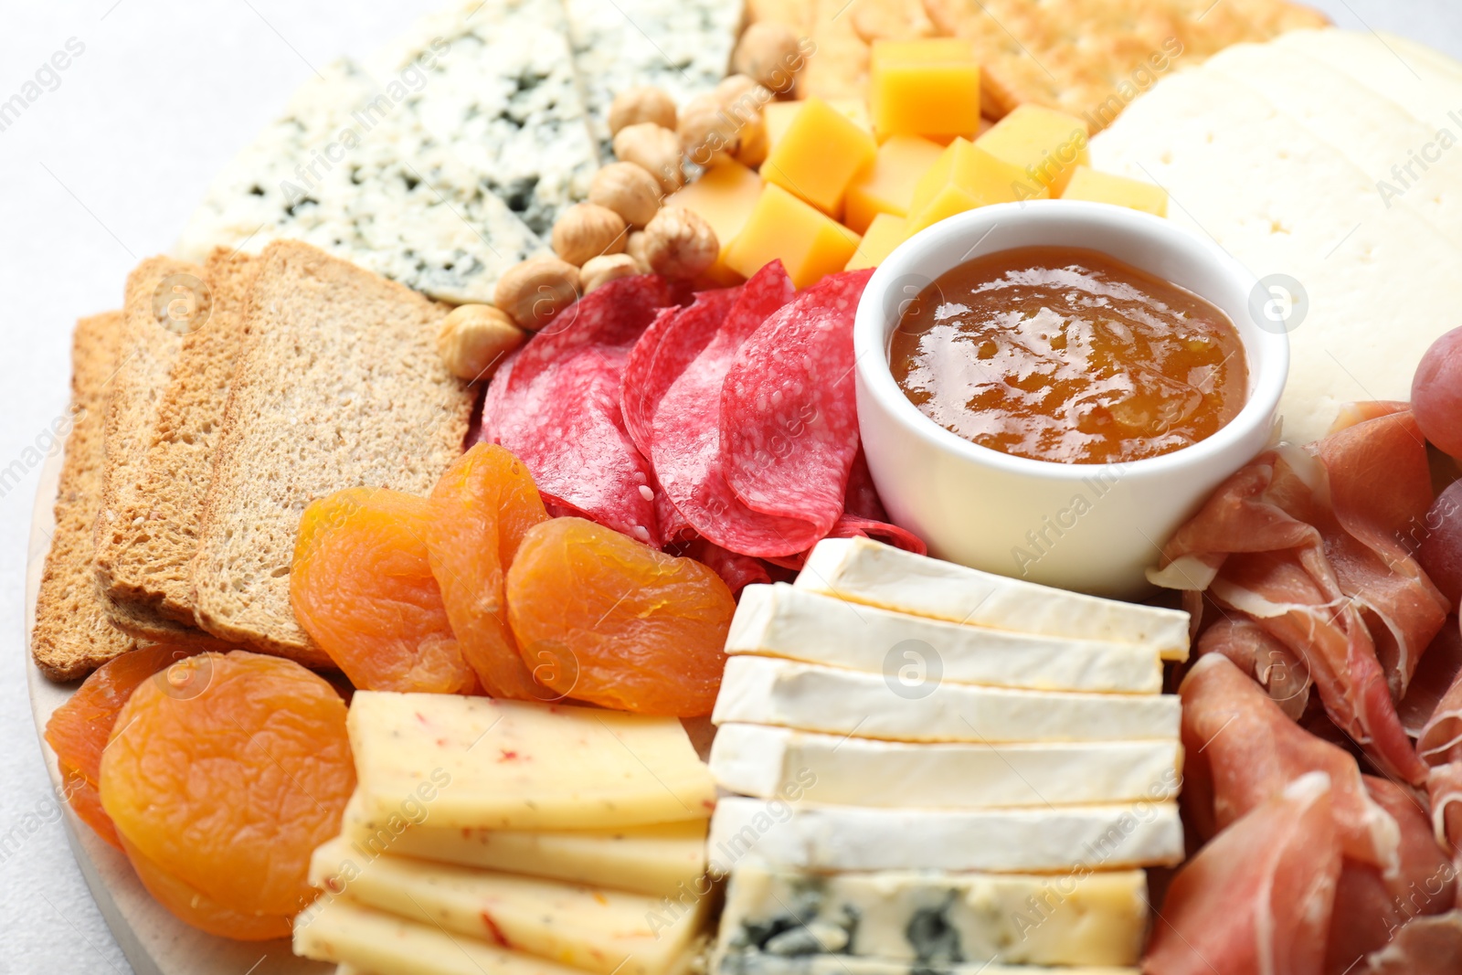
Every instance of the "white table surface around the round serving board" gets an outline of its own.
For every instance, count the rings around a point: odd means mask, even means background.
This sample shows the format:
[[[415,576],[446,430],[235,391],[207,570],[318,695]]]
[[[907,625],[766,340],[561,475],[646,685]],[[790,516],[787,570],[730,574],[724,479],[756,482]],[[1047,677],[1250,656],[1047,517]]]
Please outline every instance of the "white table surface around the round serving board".
[[[73,322],[120,304],[127,270],[173,244],[213,172],[311,66],[366,54],[434,6],[6,0],[0,101],[70,38],[85,51],[0,132],[0,469],[66,408]],[[1405,34],[1462,58],[1456,0],[1316,6],[1341,26]],[[130,975],[61,835],[25,696],[37,474],[0,484],[0,975]]]

